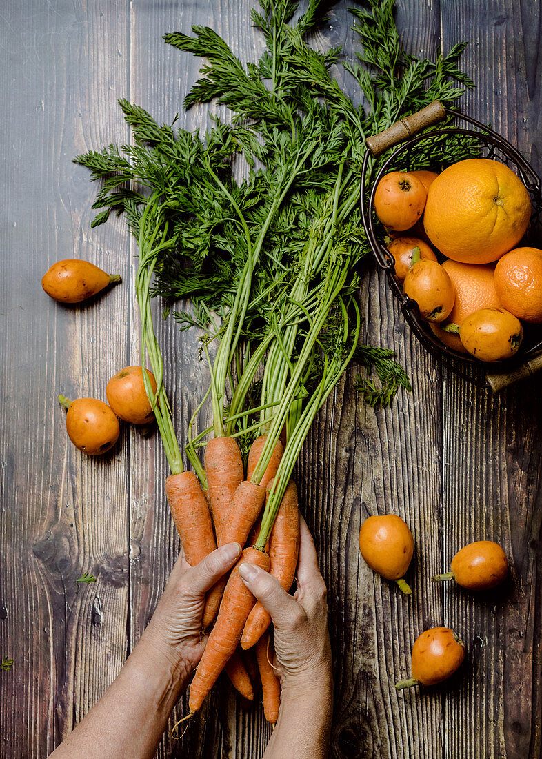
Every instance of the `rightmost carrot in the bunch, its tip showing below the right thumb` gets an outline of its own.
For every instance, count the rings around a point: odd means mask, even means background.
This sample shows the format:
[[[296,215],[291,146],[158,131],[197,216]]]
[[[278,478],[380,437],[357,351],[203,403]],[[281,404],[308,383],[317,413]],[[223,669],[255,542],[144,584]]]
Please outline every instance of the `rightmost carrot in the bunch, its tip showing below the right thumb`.
[[[271,489],[272,480],[268,483]],[[292,587],[296,576],[297,556],[299,553],[299,508],[297,505],[296,483],[292,480],[287,484],[277,519],[273,525],[269,540],[269,572],[276,577],[285,591]],[[246,620],[241,646],[244,649],[253,646],[271,624],[271,617],[258,601]]]

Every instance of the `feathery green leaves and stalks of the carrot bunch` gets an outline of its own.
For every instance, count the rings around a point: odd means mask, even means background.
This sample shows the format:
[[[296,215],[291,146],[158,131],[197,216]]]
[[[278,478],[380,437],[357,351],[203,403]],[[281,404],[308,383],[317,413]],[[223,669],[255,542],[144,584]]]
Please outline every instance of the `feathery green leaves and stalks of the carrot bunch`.
[[[193,27],[192,36],[166,34],[171,46],[205,59],[184,106],[218,102],[230,110],[230,123],[213,117],[205,134],[190,133],[121,100],[130,144],[76,159],[102,183],[93,224],[125,212],[136,235],[142,361],[158,383],[155,395],[147,392],[171,470],[182,471],[182,462],[153,296],[190,297],[190,309],[174,311],[174,318],[180,329],[203,332],[199,352],[211,379],[185,448],[202,483],[198,449],[208,433],[235,436],[243,450],[266,434],[252,474],[258,483],[286,430],[258,548],[312,420],[349,361],[357,357],[376,370],[378,385],[369,378],[358,383],[370,405],[388,405],[399,388],[410,389],[390,351],[359,343],[356,297],[368,252],[359,211],[365,137],[434,99],[453,103],[472,86],[457,67],[461,45],[434,61],[403,49],[393,0],[352,9],[361,43],[356,61],[342,61],[340,48],[315,49],[310,34],[328,10],[323,0],[309,0],[301,14],[291,0],[259,0],[252,22],[265,50],[246,65],[208,27]],[[341,63],[352,97],[334,74]],[[437,158],[473,149],[448,140],[437,146]],[[434,157],[422,143],[419,165]],[[371,160],[372,175],[379,165]],[[198,432],[195,420],[209,398],[212,424]]]

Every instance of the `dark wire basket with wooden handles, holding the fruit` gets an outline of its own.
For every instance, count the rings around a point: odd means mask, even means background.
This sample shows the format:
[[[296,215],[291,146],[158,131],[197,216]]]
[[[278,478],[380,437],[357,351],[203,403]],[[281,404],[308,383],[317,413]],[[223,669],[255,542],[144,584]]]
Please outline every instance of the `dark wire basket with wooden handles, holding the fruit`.
[[[431,131],[424,131],[446,117],[451,117],[454,121],[464,121],[472,128],[446,125],[444,128],[432,128]],[[446,162],[446,140],[449,141],[450,136],[456,138],[454,140],[456,150],[459,150],[461,155],[453,160],[449,158]],[[366,142],[369,150],[365,153],[362,166],[361,203],[362,219],[368,243],[378,266],[386,272],[391,291],[398,298],[401,311],[421,345],[459,376],[470,379],[477,384],[485,384],[487,380],[495,391],[540,370],[542,368],[542,325],[524,323],[524,338],[515,356],[490,365],[484,364],[471,354],[454,351],[453,348],[449,348],[440,342],[431,331],[428,322],[421,319],[418,304],[403,293],[403,288],[395,279],[393,255],[390,254],[384,244],[384,226],[381,225],[374,213],[376,187],[381,178],[389,172],[409,172],[418,168],[431,168],[440,172],[456,160],[469,156],[493,159],[503,162],[511,168],[525,184],[531,195],[531,222],[518,247],[522,244],[540,247],[542,191],[540,178],[534,168],[519,153],[519,150],[500,134],[470,116],[452,109],[445,109],[437,101],[431,103],[431,106],[426,109],[397,121],[396,124],[381,134],[368,137]],[[398,143],[399,146],[397,146]],[[392,148],[395,150],[381,164],[380,171],[372,181],[372,186],[368,188],[367,177],[371,169],[371,159],[384,155]],[[421,156],[424,156],[428,149],[431,149],[430,153],[431,156],[434,156],[434,160],[431,165],[428,165],[427,159],[424,165],[419,165]],[[442,157],[442,162],[439,160],[440,157]],[[471,367],[470,370],[469,367]],[[490,373],[487,373],[488,367],[490,367]],[[472,371],[472,368],[475,370]]]

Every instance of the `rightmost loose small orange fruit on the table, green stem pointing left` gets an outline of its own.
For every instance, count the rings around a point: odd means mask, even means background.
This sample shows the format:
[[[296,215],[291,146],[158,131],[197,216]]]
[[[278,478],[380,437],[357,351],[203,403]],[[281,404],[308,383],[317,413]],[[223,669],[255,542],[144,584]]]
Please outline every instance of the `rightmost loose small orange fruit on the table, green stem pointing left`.
[[[506,553],[493,540],[476,540],[468,543],[452,559],[450,572],[434,575],[434,582],[455,580],[469,591],[487,591],[496,587],[508,575]]]

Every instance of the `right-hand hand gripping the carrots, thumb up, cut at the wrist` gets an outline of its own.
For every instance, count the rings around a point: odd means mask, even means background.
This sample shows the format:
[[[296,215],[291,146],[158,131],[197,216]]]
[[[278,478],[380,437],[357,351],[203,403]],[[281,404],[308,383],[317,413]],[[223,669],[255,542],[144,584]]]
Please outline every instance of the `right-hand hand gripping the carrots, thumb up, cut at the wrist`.
[[[283,692],[292,688],[331,688],[331,644],[327,629],[327,590],[318,569],[315,543],[302,516],[297,590],[290,596],[268,572],[247,562],[239,574],[274,624],[274,647]]]

